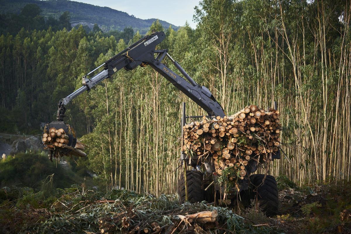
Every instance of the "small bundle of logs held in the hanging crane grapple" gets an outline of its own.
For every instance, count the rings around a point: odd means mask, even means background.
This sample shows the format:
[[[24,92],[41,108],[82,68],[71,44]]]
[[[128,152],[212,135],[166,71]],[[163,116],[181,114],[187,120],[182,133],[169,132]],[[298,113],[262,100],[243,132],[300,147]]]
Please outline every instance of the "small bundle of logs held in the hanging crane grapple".
[[[85,150],[85,145],[78,139],[74,147],[68,145],[69,136],[62,128],[50,128],[48,132],[44,131],[42,134],[42,142],[44,143],[45,149],[51,150],[50,160],[52,156],[55,158],[65,155],[86,156],[86,153],[83,152]]]

